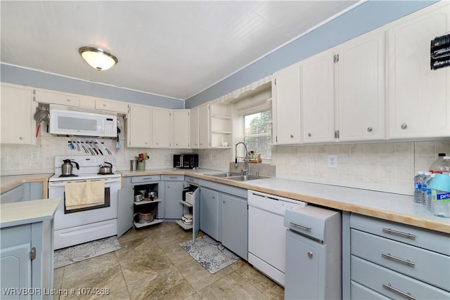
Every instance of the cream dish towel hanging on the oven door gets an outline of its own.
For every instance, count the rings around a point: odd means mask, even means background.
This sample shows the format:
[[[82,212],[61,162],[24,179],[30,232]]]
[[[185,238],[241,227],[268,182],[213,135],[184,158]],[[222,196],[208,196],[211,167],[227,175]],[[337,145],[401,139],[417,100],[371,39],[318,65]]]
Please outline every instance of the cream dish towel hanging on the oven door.
[[[105,203],[105,181],[65,184],[65,209],[94,207]]]

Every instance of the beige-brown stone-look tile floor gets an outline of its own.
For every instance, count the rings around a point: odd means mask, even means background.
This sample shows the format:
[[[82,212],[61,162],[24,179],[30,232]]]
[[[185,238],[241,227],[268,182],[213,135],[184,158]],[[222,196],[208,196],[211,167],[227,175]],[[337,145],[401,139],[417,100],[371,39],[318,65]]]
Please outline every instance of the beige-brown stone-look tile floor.
[[[119,238],[120,250],[55,269],[54,289],[105,288],[108,295],[53,299],[283,299],[283,287],[246,261],[209,273],[179,246],[191,238],[176,223],[132,228]]]

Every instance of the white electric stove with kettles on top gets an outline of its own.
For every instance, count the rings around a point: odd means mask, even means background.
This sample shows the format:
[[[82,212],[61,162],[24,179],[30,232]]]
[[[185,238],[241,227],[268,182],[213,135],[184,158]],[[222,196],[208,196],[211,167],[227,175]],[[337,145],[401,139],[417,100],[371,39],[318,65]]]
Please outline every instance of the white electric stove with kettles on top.
[[[79,169],[73,168],[72,176],[61,174],[63,159],[79,164]],[[98,174],[98,166],[105,162],[113,164],[113,174]],[[49,197],[60,197],[62,200],[53,221],[55,249],[117,235],[117,191],[121,187],[121,176],[114,174],[115,164],[113,155],[55,157],[55,174],[49,178]],[[65,185],[84,181],[104,181],[105,204],[66,211]]]

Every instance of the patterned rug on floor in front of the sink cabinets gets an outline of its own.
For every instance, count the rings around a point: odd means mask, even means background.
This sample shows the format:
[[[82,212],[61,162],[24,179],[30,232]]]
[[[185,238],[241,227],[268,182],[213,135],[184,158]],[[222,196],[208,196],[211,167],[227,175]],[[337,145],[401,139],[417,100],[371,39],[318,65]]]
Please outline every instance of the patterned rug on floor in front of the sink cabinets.
[[[199,237],[195,244],[192,243],[192,240],[188,240],[181,243],[180,246],[212,274],[240,259],[239,256],[208,235]]]

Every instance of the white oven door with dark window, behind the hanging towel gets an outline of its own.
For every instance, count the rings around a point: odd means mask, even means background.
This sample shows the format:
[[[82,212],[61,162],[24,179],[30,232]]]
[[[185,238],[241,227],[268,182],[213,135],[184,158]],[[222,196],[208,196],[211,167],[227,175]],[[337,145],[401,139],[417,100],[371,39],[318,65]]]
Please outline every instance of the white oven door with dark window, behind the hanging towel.
[[[55,212],[55,230],[117,219],[117,191],[120,189],[120,178],[91,179],[91,181],[98,180],[105,181],[105,204],[69,211],[65,210],[64,197],[65,183],[68,181],[49,182],[49,197],[60,197],[63,200]]]

